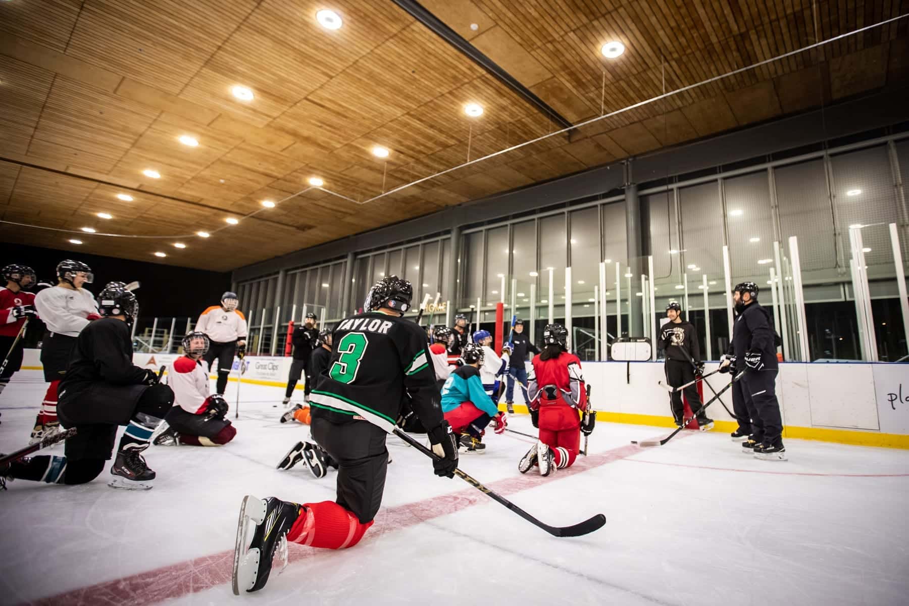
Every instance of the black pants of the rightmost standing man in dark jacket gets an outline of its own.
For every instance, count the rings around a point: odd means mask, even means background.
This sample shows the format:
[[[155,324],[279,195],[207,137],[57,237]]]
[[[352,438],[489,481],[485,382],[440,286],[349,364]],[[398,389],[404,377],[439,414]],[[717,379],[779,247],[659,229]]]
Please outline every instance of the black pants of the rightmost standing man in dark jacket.
[[[747,431],[742,425],[744,420],[751,419],[752,437],[765,444],[782,442],[783,416],[776,399],[776,373],[776,370],[745,371],[733,385],[733,410],[739,418],[739,428]]]

